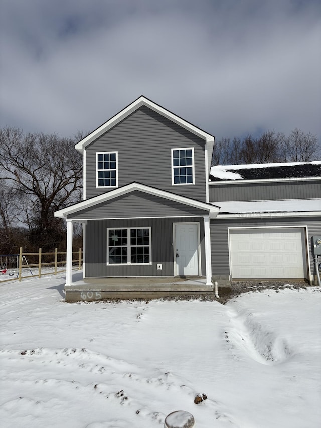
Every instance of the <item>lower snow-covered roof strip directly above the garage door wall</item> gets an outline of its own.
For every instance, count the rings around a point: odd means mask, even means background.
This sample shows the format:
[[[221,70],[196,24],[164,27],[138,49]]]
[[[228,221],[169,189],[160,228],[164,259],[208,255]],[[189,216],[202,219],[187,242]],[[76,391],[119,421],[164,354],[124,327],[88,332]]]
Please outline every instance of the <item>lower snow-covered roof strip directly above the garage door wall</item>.
[[[272,212],[320,212],[321,199],[289,199],[273,201],[224,201],[215,202],[220,214],[272,213]]]

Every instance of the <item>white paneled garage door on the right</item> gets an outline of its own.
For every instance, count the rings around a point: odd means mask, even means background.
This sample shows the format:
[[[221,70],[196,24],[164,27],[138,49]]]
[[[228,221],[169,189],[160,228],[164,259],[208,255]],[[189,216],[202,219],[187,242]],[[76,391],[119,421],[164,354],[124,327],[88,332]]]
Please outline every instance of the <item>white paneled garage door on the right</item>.
[[[302,228],[230,229],[232,279],[306,278]]]

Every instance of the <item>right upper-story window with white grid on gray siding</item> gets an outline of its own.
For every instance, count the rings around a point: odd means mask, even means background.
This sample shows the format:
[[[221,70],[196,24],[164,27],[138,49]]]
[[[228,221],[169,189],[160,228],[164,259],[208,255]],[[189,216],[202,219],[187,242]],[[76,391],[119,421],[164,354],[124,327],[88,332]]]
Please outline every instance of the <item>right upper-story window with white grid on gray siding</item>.
[[[194,148],[172,149],[172,184],[194,184]]]

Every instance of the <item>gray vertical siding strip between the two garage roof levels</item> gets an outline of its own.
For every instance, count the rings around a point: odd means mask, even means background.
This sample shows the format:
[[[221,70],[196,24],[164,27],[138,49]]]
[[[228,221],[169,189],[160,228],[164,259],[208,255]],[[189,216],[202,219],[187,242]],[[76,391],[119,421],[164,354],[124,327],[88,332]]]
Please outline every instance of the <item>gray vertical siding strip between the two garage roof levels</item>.
[[[210,202],[321,198],[321,179],[278,183],[209,185]]]

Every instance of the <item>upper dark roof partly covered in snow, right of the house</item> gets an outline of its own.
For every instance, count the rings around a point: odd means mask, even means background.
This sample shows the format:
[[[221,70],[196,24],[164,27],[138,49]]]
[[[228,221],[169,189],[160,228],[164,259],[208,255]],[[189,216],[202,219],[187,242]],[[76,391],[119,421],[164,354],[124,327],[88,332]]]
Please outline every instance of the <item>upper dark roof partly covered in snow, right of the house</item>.
[[[222,180],[263,180],[321,177],[321,161],[275,164],[215,165],[210,182]]]

